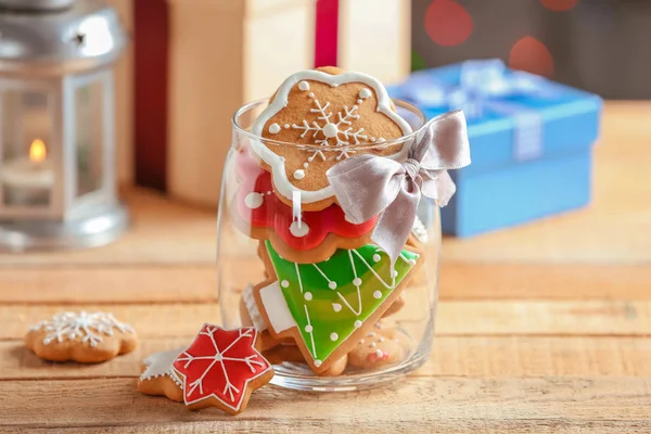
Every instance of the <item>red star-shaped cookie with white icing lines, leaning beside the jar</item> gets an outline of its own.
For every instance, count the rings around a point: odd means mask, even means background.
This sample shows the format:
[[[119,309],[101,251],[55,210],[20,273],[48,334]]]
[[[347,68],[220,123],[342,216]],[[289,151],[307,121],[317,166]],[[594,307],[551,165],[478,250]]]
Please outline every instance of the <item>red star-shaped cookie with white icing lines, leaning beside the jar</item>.
[[[246,408],[251,393],[273,376],[269,362],[255,349],[256,336],[254,328],[204,324],[173,363],[183,382],[186,406],[218,407],[230,414]]]

